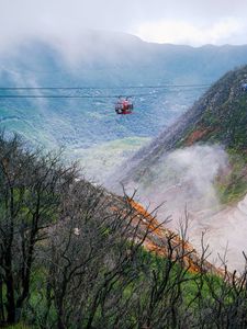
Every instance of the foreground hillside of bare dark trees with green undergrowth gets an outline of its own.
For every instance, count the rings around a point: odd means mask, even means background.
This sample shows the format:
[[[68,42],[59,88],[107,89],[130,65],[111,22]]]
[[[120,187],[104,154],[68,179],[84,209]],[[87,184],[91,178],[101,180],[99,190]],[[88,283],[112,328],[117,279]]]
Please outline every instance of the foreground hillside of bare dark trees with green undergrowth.
[[[184,263],[183,239],[145,250],[153,224],[80,177],[60,154],[0,135],[0,326],[247,328],[247,271]]]

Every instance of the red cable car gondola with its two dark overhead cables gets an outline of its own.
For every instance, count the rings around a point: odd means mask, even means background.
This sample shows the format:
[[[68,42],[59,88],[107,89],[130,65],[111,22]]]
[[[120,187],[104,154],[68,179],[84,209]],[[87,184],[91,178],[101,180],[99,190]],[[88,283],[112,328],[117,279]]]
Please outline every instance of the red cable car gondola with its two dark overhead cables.
[[[133,99],[157,97],[162,92],[206,89],[210,84],[158,84],[125,87],[0,87],[1,99],[115,99],[116,114],[132,114]],[[121,90],[120,95],[116,92]],[[135,92],[130,92],[135,90]],[[108,93],[105,93],[108,91]],[[111,91],[111,92],[109,92]],[[139,92],[141,91],[141,92]],[[148,102],[148,101],[147,101]]]

